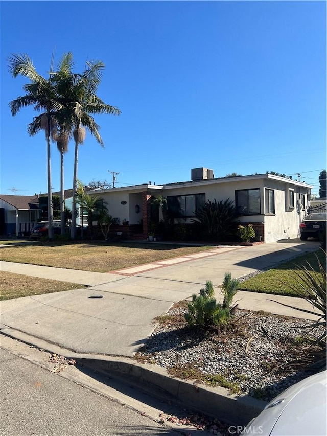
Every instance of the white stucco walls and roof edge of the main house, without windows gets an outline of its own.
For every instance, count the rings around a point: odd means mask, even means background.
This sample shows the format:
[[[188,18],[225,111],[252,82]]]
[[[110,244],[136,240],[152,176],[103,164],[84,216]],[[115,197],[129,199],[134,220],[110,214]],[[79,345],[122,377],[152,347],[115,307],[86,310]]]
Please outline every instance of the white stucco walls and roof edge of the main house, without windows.
[[[265,189],[274,190],[275,214],[266,214],[265,210]],[[286,180],[275,176],[249,176],[236,177],[231,179],[207,180],[200,182],[175,183],[173,185],[159,186],[138,186],[126,187],[124,189],[112,189],[97,192],[108,203],[109,213],[118,217],[121,223],[124,219],[130,224],[138,224],[142,219],[142,191],[150,192],[151,195],[164,197],[171,195],[205,194],[205,200],[217,201],[230,199],[235,204],[235,191],[241,189],[260,189],[260,215],[243,215],[241,222],[264,223],[265,242],[274,242],[281,239],[293,239],[299,236],[299,224],[306,214],[308,208],[307,189],[308,185],[299,185],[294,180]],[[289,189],[294,190],[295,207],[289,208]],[[297,200],[300,194],[305,195],[305,209],[299,210]],[[125,205],[121,201],[126,201]],[[140,213],[135,213],[135,205],[140,206]],[[190,219],[188,219],[189,222]]]

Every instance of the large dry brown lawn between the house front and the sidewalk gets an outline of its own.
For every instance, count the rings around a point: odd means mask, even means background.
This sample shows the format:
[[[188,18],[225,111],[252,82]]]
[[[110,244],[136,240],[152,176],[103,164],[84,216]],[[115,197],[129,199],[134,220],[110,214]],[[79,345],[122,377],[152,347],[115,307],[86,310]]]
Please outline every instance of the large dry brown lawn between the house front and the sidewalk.
[[[208,246],[137,243],[31,243],[0,248],[0,260],[83,271],[109,272],[198,253]]]

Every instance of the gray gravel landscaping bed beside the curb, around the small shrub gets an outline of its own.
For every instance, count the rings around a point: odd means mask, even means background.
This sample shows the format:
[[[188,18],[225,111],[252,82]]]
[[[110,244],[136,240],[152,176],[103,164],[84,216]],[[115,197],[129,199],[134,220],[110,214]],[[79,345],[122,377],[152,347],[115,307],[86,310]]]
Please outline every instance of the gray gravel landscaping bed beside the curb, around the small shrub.
[[[184,304],[177,304],[160,317],[135,358],[160,365],[173,376],[217,383],[266,401],[312,374],[298,365],[286,365],[303,358],[303,353],[309,358],[318,351],[314,347],[305,351],[308,338],[322,332],[322,328],[303,329],[312,322],[236,310],[228,331],[205,331],[186,325],[186,310]]]

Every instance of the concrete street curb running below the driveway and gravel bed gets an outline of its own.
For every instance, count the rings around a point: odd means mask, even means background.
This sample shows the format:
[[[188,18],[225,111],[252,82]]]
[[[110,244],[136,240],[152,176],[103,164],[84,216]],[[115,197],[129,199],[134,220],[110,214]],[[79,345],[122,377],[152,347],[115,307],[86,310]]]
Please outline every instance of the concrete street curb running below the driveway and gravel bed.
[[[267,404],[248,395],[229,394],[223,387],[195,385],[192,381],[172,378],[160,366],[141,364],[131,358],[76,353],[7,326],[1,326],[0,332],[43,351],[61,355],[66,359],[75,359],[77,364],[91,370],[127,381],[152,394],[159,394],[183,407],[231,425],[247,425]]]

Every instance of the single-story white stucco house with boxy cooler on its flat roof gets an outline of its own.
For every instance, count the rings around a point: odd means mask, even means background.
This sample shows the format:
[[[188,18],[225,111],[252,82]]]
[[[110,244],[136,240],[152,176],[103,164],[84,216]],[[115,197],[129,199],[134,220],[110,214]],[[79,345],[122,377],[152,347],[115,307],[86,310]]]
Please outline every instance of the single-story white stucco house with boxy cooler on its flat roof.
[[[192,170],[192,181],[111,188],[98,190],[96,194],[104,199],[114,218],[128,224],[113,226],[113,230],[131,239],[147,238],[151,228],[150,199],[162,195],[168,204],[178,202],[185,223],[192,222],[194,212],[207,200],[229,198],[235,202],[242,223],[252,223],[262,241],[274,242],[299,236],[299,225],[306,215],[312,188],[272,174],[214,178],[212,170],[196,168]]]

